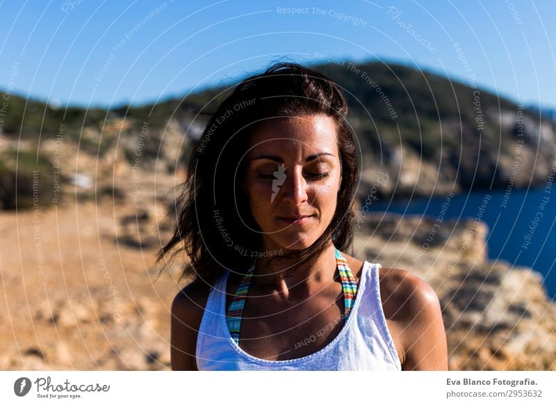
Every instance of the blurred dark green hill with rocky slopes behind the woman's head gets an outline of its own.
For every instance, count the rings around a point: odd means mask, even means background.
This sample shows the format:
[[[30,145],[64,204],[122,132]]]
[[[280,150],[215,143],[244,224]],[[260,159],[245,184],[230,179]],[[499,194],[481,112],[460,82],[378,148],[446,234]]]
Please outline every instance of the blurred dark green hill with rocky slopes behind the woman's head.
[[[390,176],[389,184],[378,187],[382,196],[428,196],[450,189],[520,188],[546,182],[556,155],[556,127],[535,111],[483,89],[395,63],[325,63],[313,68],[336,81],[347,96],[349,120],[366,169],[362,195],[375,184],[377,173]],[[165,141],[167,124],[174,122],[182,136],[188,132],[184,161],[206,120],[206,116],[194,120],[192,111],[203,106],[212,111],[229,90],[220,86],[185,99],[109,110],[53,109],[12,94],[2,111],[1,135],[7,143],[17,139],[33,143],[56,136],[64,125],[65,139],[79,143],[83,152],[103,155],[116,145],[133,145],[140,123],[149,122],[155,135],[149,159],[160,161],[165,156],[158,153],[156,142]],[[123,155],[129,160],[133,151],[124,150]]]

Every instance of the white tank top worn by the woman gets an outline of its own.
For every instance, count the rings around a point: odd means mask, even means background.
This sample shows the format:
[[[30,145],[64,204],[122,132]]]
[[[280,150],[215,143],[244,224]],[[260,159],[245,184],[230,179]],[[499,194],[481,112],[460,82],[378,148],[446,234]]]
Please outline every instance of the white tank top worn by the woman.
[[[197,335],[197,369],[402,370],[382,310],[380,267],[364,262],[351,315],[334,340],[309,356],[290,360],[256,358],[234,342],[226,322],[228,271],[208,295]]]

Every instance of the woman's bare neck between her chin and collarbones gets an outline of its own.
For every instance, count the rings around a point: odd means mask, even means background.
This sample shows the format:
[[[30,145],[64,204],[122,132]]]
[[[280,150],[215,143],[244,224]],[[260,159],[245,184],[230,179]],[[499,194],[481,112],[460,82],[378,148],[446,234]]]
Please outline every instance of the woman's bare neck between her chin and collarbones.
[[[261,257],[255,264],[251,283],[286,298],[290,292],[303,296],[312,294],[322,283],[332,282],[335,271],[336,249],[331,241],[316,259],[301,264]]]

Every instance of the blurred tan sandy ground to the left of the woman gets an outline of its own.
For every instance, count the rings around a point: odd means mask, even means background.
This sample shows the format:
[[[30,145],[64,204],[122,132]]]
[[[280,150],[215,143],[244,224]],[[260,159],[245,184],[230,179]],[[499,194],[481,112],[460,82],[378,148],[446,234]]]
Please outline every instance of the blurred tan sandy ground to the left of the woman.
[[[122,242],[157,219],[138,225],[130,200],[72,198],[0,212],[0,369],[169,369],[175,275],[155,282],[156,243]]]

